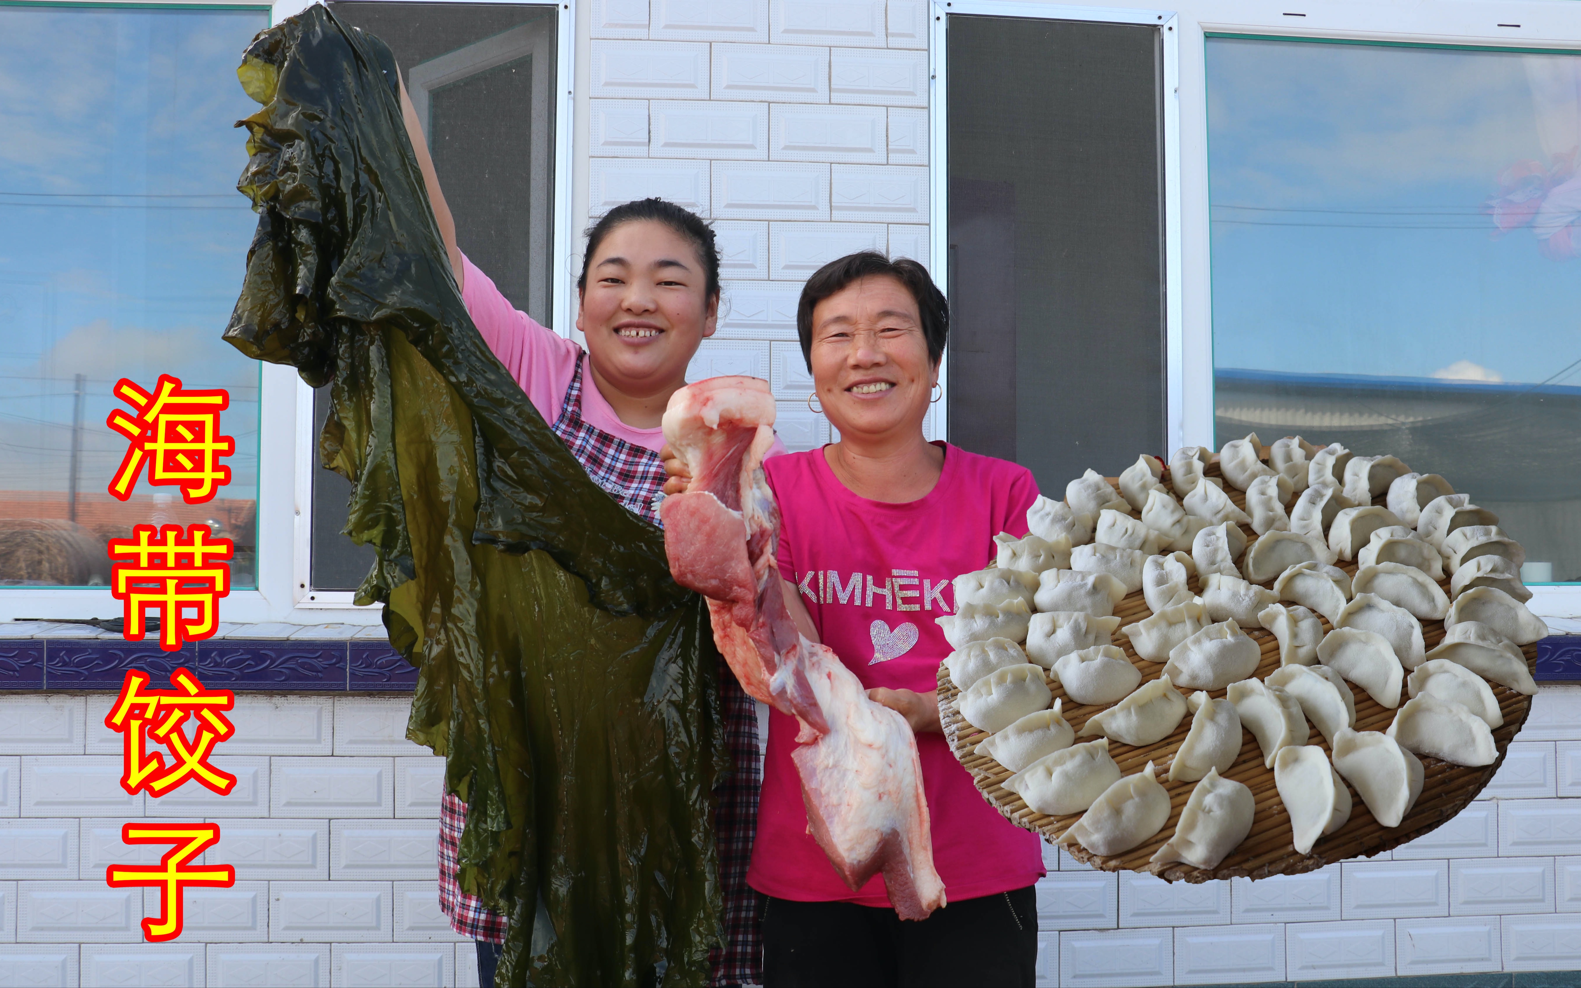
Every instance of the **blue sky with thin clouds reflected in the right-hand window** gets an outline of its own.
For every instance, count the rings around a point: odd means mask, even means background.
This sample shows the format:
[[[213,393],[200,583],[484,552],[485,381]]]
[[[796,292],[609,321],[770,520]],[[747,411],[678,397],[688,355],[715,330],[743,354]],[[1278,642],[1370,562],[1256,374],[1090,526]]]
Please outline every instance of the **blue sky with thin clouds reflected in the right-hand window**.
[[[1581,357],[1581,261],[1481,213],[1545,138],[1575,147],[1576,81],[1578,57],[1209,38],[1214,365],[1534,383]]]

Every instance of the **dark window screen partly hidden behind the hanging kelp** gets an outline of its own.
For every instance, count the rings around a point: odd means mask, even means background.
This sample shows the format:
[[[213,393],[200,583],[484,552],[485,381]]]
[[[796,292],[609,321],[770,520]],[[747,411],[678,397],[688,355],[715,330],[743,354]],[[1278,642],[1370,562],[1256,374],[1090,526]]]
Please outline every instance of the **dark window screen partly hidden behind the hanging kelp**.
[[[395,52],[462,250],[512,305],[550,326],[557,8],[354,0],[330,9]],[[327,413],[319,389],[319,427]],[[315,590],[354,590],[373,564],[372,549],[340,534],[349,495],[315,454]]]

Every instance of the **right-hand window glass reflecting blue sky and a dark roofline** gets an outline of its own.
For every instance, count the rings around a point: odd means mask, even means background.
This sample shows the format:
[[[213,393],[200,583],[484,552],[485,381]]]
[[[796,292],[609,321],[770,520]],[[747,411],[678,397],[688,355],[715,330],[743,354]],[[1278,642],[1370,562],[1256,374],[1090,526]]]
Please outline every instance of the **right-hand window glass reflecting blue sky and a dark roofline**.
[[[1581,580],[1581,57],[1209,38],[1217,441],[1440,473]]]

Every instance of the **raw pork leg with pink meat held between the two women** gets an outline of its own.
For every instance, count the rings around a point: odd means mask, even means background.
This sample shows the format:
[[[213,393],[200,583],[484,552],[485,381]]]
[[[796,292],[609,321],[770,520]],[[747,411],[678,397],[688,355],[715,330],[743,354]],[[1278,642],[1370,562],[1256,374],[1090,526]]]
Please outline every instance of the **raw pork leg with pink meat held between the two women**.
[[[868,699],[854,672],[797,632],[779,586],[779,506],[764,481],[775,400],[757,378],[680,389],[664,438],[692,474],[659,506],[670,572],[708,598],[713,640],[746,692],[800,721],[790,757],[806,819],[852,892],[884,873],[903,920],[944,906],[933,869],[922,764],[906,718]]]

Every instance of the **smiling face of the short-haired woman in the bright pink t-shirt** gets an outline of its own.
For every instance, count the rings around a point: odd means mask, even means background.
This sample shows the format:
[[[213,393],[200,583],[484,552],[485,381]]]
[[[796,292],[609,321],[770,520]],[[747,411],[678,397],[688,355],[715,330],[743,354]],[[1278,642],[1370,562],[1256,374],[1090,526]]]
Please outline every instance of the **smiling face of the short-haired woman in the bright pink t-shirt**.
[[[896,278],[858,278],[813,307],[813,386],[840,435],[884,441],[922,430],[938,367],[917,300]]]

